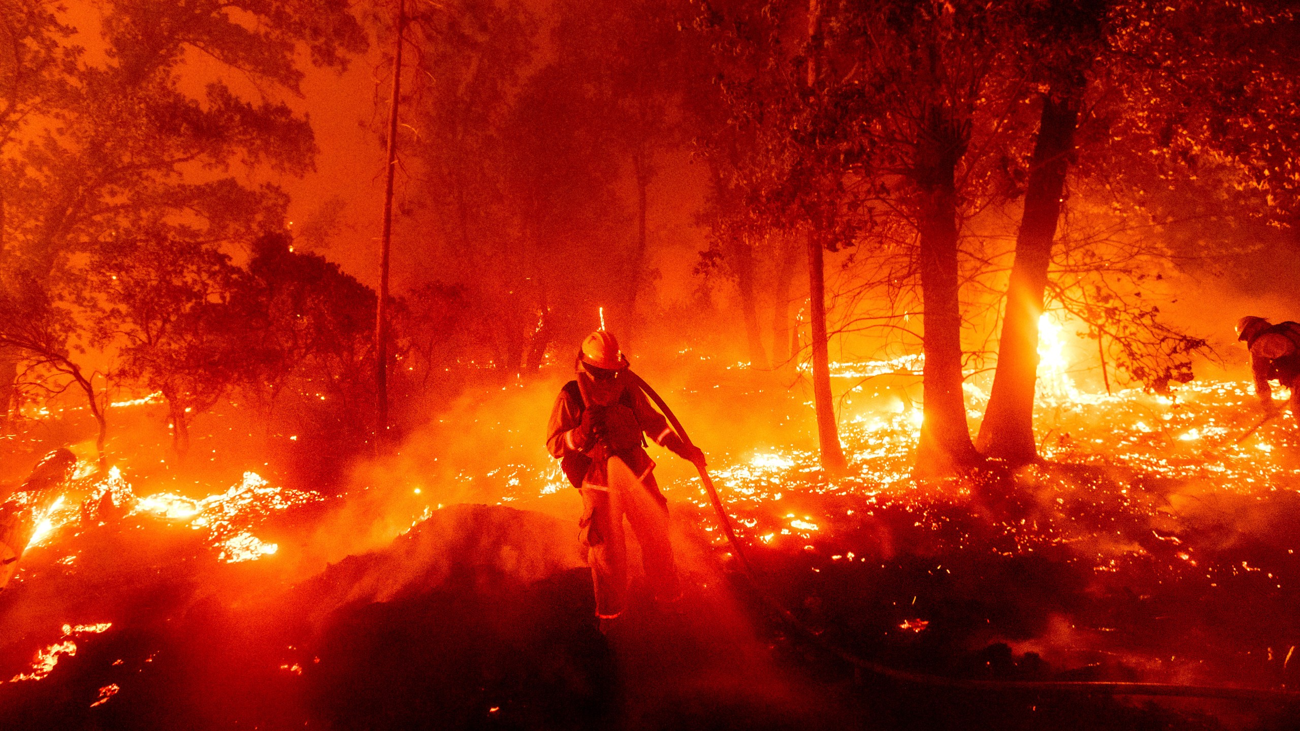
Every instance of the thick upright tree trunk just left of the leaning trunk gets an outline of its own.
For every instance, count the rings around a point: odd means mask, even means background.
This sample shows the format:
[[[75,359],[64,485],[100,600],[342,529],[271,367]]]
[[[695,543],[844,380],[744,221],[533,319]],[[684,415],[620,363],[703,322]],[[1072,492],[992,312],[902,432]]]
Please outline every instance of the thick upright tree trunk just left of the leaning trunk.
[[[924,421],[916,447],[916,475],[922,477],[952,475],[980,462],[971,442],[962,394],[954,176],[965,153],[963,139],[946,109],[939,105],[930,109],[916,164],[926,352]]]

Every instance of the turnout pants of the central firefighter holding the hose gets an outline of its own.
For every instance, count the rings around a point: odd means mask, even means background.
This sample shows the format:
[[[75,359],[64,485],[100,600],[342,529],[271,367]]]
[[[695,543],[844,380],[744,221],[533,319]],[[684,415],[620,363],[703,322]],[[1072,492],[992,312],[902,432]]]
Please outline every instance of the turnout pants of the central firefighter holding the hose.
[[[607,488],[582,484],[582,519],[578,522],[580,540],[595,584],[595,614],[604,619],[627,609],[624,518],[641,546],[641,565],[655,598],[677,598],[677,568],[668,542],[668,501],[659,494],[651,475],[638,480],[618,457],[610,458],[608,483]]]

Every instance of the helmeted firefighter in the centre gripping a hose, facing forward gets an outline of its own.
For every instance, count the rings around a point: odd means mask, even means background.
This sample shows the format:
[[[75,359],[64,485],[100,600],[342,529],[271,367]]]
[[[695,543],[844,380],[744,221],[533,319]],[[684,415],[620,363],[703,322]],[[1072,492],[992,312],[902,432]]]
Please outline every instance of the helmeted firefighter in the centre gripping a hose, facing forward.
[[[703,468],[699,447],[682,442],[667,419],[627,376],[628,360],[604,330],[592,333],[577,355],[577,377],[560,389],[546,446],[582,494],[578,540],[595,585],[601,628],[627,609],[627,518],[655,600],[675,601],[677,571],[668,541],[668,501],[654,479],[646,437]]]

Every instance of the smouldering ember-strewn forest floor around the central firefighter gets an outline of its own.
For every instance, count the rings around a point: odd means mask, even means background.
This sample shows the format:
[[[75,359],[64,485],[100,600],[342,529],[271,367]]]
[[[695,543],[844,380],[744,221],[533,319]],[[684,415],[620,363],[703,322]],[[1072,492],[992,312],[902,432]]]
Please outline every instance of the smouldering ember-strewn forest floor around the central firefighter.
[[[1290,416],[1236,444],[1256,421],[1244,384],[1071,390],[1040,407],[1049,463],[916,485],[907,379],[878,376],[844,405],[853,473],[833,481],[780,377],[701,366],[663,388],[762,589],[823,637],[961,678],[1300,684]],[[577,497],[541,445],[554,386],[467,398],[337,496],[274,475],[177,494],[129,468],[112,489],[78,486],[0,592],[4,726],[1296,724],[1295,706],[1260,701],[855,676],[764,607],[698,479],[659,453],[688,591],[656,606],[634,587],[629,617],[602,635]]]

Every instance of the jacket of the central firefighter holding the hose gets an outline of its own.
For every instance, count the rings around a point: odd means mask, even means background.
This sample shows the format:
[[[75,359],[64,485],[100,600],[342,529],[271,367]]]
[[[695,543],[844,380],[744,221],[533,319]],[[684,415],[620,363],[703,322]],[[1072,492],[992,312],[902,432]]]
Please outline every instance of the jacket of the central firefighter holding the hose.
[[[663,414],[650,406],[641,389],[627,384],[623,379],[597,381],[586,373],[578,373],[585,382],[578,386],[576,380],[564,384],[547,428],[546,449],[551,457],[562,460],[566,476],[575,488],[582,484],[608,486],[608,458],[619,457],[641,480],[654,470],[654,460],[642,446],[642,434],[655,444],[680,454],[681,440],[668,425]],[[582,412],[586,410],[582,390],[594,406],[606,411],[606,440],[589,438],[578,429]],[[588,444],[590,442],[590,444]]]

